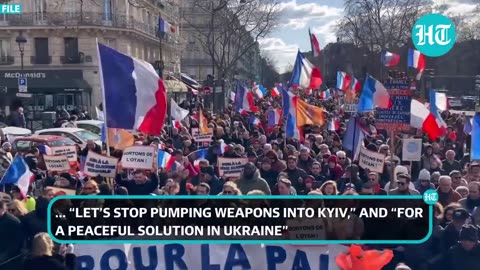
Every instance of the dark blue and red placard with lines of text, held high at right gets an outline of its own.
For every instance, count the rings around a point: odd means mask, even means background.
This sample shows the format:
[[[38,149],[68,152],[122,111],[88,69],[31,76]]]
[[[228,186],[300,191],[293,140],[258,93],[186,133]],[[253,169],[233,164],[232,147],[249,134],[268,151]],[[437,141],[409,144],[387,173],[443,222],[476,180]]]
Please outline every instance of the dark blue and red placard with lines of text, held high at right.
[[[377,108],[377,129],[404,131],[410,130],[410,107],[413,91],[410,90],[410,81],[405,79],[385,80],[384,86],[388,89],[392,107],[389,109]]]

